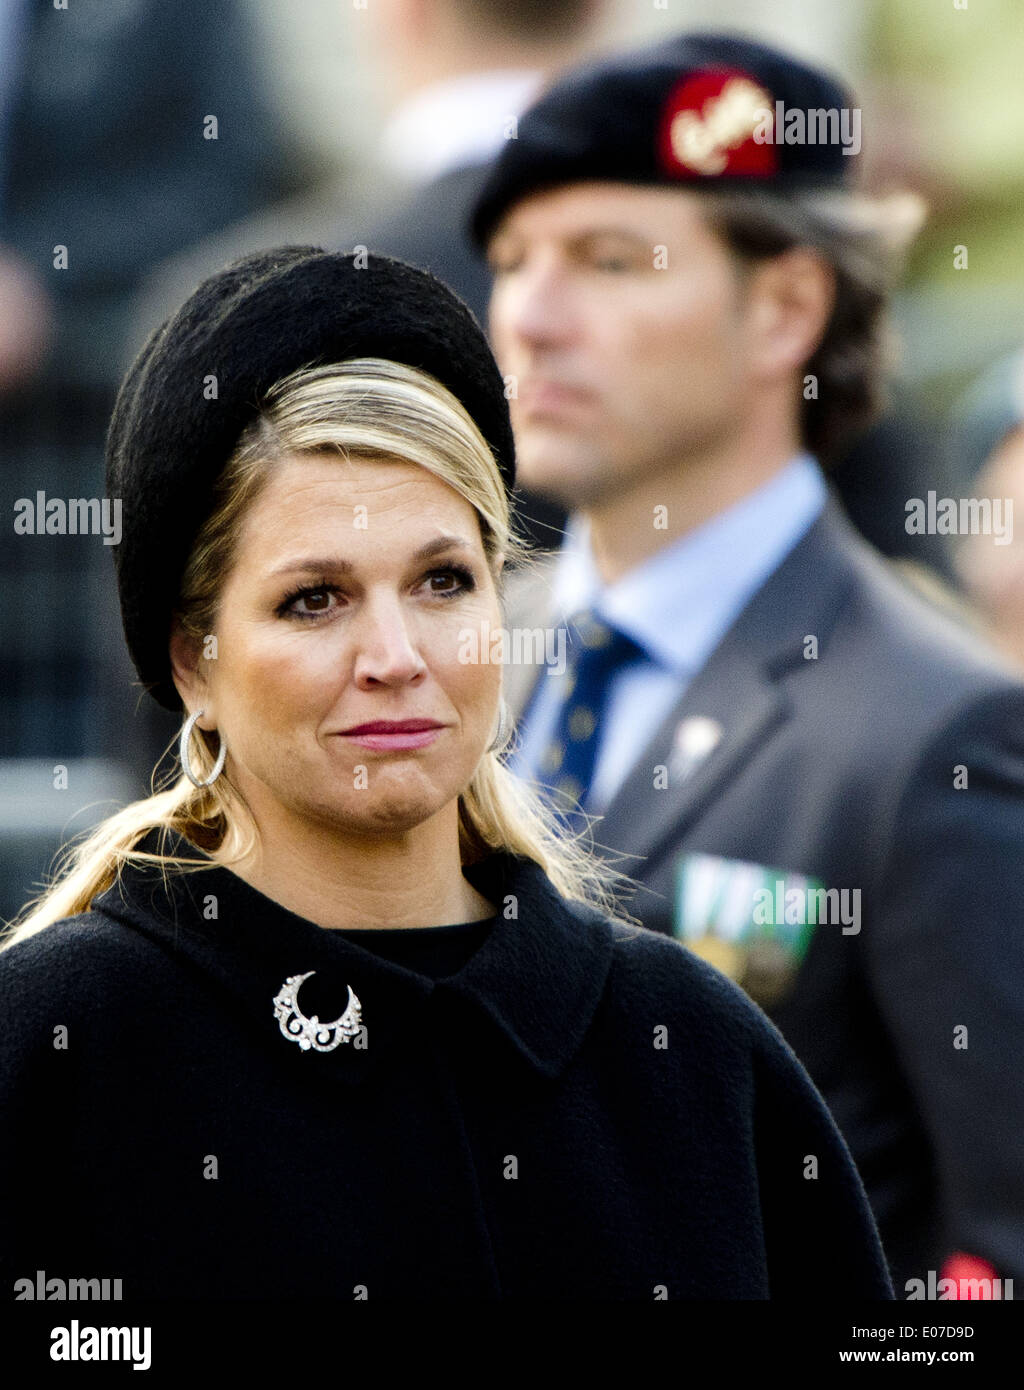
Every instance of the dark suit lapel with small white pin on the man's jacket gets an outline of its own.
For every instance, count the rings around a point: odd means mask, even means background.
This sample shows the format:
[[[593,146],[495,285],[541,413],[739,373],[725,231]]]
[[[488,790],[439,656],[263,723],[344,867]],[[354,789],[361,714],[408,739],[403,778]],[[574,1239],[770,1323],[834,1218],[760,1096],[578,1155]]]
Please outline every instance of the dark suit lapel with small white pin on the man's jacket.
[[[599,848],[650,858],[677,844],[789,717],[781,677],[806,662],[809,637],[821,656],[853,580],[843,559],[850,543],[849,523],[829,499],[654,733],[593,827]]]

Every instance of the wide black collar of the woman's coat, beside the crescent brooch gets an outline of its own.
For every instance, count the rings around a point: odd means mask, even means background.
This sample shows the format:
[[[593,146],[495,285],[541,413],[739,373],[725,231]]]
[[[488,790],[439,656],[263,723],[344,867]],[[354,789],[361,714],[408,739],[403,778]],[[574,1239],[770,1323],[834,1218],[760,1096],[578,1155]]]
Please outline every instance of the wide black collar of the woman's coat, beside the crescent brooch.
[[[156,835],[139,848],[154,849]],[[201,855],[181,837],[172,848],[188,858]],[[320,1065],[322,1074],[358,1083],[388,1058],[421,1048],[424,1030],[450,1029],[460,1017],[465,1023],[468,1009],[477,1024],[474,1045],[482,1023],[536,1072],[557,1077],[581,1047],[603,994],[611,924],[561,898],[531,859],[495,852],[464,873],[495,903],[497,919],[465,966],[439,981],[296,916],[220,865],[170,873],[167,883],[158,867],[128,865],[92,906],[157,944],[200,987],[229,997],[264,1045],[286,1056],[285,1065],[302,1065],[306,1076]],[[282,1037],[274,997],[289,976],[308,970],[320,979],[303,986],[304,1012],[338,1016],[352,986],[363,1005],[364,1048],[302,1052]]]

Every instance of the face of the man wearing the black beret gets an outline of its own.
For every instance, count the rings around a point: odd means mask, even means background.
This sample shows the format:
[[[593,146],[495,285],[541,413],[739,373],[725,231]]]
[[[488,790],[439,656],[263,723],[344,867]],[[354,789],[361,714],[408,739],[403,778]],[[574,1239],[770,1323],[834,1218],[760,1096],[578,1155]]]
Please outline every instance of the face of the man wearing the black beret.
[[[738,432],[752,384],[743,286],[699,195],[540,192],[510,208],[488,261],[524,486],[600,503]]]

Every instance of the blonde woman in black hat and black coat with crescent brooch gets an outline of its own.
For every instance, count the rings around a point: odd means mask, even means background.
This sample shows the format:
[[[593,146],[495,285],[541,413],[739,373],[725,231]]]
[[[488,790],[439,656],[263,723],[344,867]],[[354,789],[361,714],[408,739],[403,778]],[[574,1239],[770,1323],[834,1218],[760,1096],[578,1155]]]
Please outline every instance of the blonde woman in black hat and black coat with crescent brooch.
[[[183,771],[0,955],[8,1297],[892,1297],[781,1037],[500,762],[511,484],[475,320],[382,257],[236,263],[129,371]]]

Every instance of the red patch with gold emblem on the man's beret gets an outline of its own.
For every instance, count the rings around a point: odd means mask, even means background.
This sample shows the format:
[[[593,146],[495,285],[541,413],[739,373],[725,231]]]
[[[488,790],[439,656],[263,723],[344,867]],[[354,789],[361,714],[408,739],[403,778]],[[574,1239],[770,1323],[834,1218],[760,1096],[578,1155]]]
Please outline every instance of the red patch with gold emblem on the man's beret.
[[[771,178],[778,174],[774,110],[768,92],[746,72],[718,68],[685,78],[661,118],[663,168],[677,177]]]

